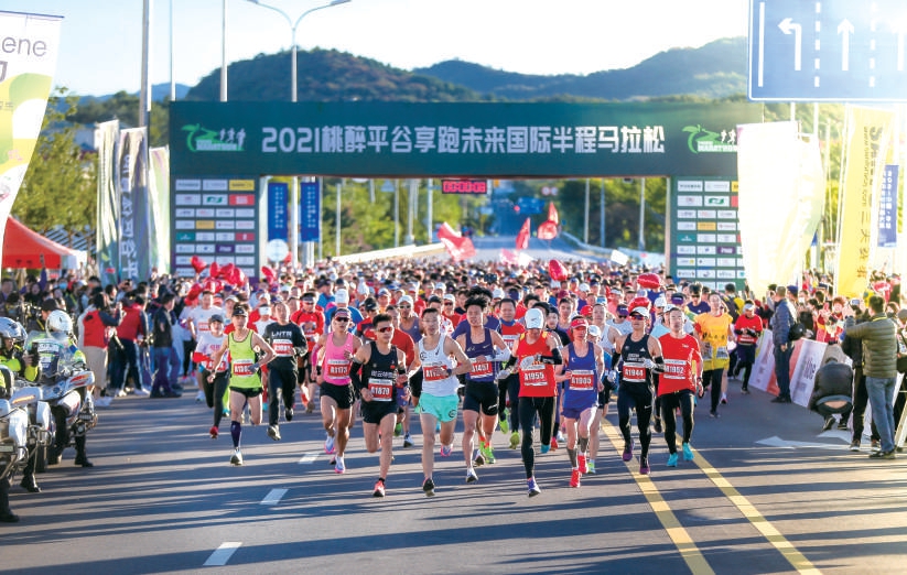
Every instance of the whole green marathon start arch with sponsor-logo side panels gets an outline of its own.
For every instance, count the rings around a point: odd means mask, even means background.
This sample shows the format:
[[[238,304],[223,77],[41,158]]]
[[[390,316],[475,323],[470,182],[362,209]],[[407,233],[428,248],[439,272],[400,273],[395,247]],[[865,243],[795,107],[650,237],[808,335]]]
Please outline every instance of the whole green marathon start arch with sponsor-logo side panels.
[[[173,102],[172,270],[192,275],[198,254],[258,275],[266,174],[659,176],[670,272],[742,283],[736,127],[760,121],[749,104]]]

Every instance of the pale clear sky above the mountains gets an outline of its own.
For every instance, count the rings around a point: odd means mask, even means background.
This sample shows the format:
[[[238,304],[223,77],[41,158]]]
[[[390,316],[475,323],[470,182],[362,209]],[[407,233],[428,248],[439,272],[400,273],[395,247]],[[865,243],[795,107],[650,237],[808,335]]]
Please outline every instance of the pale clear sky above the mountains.
[[[152,0],[151,82],[194,86],[220,67],[225,0]],[[293,21],[330,0],[259,0]],[[290,24],[226,0],[227,61],[291,45]],[[0,10],[64,17],[54,84],[79,95],[138,91],[142,0],[2,0]],[[352,0],[306,15],[303,50],[336,48],[403,69],[458,58],[526,74],[625,68],[671,47],[746,35],[748,0]],[[289,70],[288,70],[289,75]]]

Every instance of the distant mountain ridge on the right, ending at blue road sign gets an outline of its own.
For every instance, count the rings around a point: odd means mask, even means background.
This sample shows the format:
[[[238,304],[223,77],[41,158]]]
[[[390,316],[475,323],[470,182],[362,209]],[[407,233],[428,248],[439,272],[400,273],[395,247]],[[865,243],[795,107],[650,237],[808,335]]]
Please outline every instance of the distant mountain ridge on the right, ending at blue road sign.
[[[746,91],[746,39],[717,40],[700,48],[673,48],[629,68],[585,76],[518,74],[461,61],[413,72],[510,100],[563,96],[608,100],[674,95],[723,98]]]

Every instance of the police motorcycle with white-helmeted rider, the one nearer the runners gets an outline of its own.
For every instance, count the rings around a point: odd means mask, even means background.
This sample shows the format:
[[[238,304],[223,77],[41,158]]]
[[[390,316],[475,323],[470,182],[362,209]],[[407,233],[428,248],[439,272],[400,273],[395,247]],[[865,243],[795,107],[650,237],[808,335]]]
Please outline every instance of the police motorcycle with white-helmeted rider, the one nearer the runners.
[[[98,422],[87,392],[95,375],[73,341],[73,321],[57,310],[47,316],[44,332],[29,334],[26,347],[37,358],[42,397],[53,415],[54,441],[48,446],[47,464],[58,464],[66,447],[75,446],[76,465],[91,467],[85,455],[85,435]]]

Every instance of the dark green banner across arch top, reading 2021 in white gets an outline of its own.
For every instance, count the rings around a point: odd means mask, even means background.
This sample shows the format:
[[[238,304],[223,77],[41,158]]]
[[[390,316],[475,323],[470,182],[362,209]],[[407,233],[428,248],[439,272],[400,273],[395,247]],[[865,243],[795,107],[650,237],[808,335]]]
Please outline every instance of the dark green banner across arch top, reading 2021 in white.
[[[172,174],[592,177],[736,174],[749,104],[171,105]]]

